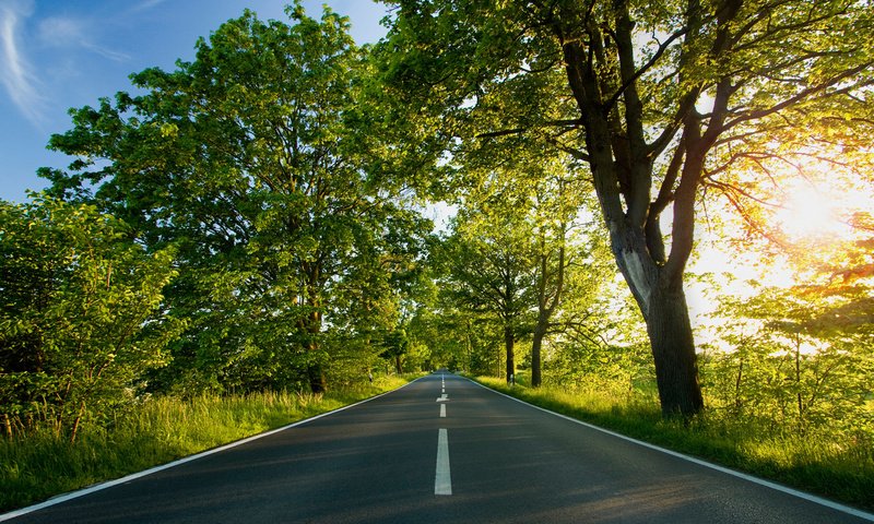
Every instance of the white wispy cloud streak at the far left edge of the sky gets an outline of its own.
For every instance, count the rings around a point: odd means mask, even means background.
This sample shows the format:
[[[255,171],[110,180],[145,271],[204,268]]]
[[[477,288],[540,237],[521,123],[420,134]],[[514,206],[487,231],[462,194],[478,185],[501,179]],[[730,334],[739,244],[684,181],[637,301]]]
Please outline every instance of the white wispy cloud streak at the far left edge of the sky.
[[[3,87],[19,110],[35,126],[45,122],[46,98],[33,67],[21,48],[22,22],[33,13],[32,1],[7,1],[0,5],[0,63]]]

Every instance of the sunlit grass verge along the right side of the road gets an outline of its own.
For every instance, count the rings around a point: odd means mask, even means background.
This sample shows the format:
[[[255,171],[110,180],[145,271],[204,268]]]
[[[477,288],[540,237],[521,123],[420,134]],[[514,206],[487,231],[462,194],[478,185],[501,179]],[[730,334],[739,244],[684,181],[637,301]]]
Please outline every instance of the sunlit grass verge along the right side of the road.
[[[476,377],[483,385],[669,450],[766,478],[824,498],[874,510],[872,439],[836,439],[825,431],[798,434],[748,420],[704,414],[689,422],[665,420],[657,398],[615,391],[529,388],[524,380]],[[841,441],[838,441],[841,440]]]

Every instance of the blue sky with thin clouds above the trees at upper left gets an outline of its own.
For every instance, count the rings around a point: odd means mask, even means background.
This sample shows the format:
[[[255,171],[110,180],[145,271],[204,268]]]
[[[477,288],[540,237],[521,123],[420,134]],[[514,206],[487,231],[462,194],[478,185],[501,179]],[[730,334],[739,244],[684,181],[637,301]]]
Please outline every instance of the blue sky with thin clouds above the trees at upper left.
[[[69,158],[46,150],[51,133],[70,129],[71,107],[130,91],[128,75],[150,67],[173,70],[191,60],[194,43],[246,8],[286,21],[284,0],[0,0],[0,199],[26,200],[40,190],[40,166]],[[385,35],[386,14],[371,0],[305,0],[350,16],[358,44]]]

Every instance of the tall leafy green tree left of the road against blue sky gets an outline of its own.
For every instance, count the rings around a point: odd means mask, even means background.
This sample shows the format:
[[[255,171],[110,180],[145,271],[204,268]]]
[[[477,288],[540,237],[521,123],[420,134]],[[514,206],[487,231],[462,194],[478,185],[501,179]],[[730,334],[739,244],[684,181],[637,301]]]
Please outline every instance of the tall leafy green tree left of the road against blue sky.
[[[347,19],[286,13],[291,25],[247,11],[194,61],[133,75],[141,95],[72,111],[51,147],[79,159],[43,170],[55,194],[122,217],[150,249],[177,247],[168,296],[192,322],[174,373],[194,388],[324,391],[332,350],[367,346],[377,318],[393,324],[392,286],[427,227],[368,168],[380,152]]]

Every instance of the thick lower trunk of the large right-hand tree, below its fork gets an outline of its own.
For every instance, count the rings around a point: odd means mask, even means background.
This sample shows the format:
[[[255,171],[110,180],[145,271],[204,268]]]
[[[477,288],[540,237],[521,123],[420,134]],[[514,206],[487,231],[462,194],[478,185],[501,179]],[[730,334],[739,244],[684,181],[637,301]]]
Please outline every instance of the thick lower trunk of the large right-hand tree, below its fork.
[[[698,384],[695,341],[686,296],[680,289],[653,286],[649,296],[647,333],[656,362],[659,400],[665,417],[690,417],[704,407]]]

